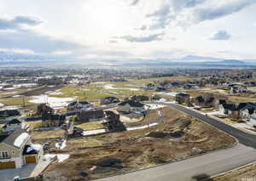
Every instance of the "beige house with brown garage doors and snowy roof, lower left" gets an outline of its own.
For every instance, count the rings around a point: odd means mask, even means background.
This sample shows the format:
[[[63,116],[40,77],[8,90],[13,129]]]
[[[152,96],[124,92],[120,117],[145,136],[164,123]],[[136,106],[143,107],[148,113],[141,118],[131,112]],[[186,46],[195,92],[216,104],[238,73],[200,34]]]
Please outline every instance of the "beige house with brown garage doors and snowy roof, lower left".
[[[20,168],[36,163],[43,155],[40,144],[32,144],[26,130],[17,128],[13,133],[0,136],[0,169]]]

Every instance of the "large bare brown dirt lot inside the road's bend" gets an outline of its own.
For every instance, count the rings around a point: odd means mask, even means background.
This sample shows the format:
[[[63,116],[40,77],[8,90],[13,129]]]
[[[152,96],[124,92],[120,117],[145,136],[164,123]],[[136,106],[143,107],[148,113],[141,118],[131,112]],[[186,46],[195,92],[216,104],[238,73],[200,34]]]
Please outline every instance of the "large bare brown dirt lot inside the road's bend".
[[[69,139],[64,150],[52,151],[70,154],[69,159],[51,164],[44,180],[89,180],[197,156],[235,143],[230,136],[177,110],[161,111],[166,118],[156,127]],[[148,116],[145,122],[149,121]]]

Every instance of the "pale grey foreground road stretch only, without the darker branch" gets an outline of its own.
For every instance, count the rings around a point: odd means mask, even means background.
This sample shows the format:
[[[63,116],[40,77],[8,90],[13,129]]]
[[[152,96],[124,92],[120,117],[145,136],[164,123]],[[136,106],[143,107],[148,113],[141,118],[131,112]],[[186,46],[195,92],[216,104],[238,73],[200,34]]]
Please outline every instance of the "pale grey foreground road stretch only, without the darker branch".
[[[218,150],[204,156],[177,161],[142,171],[117,175],[97,181],[187,181],[206,173],[215,175],[244,166],[256,158],[256,150],[243,144],[228,150]]]

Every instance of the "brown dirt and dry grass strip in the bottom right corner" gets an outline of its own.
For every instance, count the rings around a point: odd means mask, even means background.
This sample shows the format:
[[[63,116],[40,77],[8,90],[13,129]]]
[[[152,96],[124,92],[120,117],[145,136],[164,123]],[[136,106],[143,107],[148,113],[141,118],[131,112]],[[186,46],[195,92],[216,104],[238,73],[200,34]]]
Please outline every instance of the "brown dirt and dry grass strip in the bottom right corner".
[[[212,181],[242,181],[256,180],[256,163],[240,168],[238,170],[226,173],[223,176],[212,178]]]

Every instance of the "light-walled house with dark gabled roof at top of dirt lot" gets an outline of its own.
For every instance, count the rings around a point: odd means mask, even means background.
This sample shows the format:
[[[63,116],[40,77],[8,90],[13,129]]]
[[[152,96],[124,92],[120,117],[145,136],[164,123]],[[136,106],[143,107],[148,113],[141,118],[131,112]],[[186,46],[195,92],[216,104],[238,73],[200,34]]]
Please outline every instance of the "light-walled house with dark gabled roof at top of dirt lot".
[[[118,110],[120,112],[130,113],[130,112],[144,112],[145,106],[140,103],[139,101],[134,100],[127,100],[124,102],[121,102],[118,105]]]

